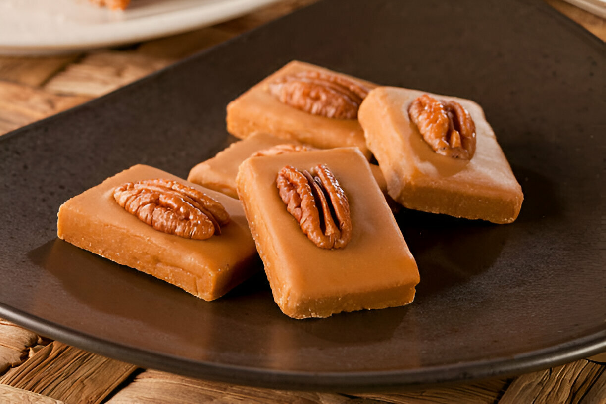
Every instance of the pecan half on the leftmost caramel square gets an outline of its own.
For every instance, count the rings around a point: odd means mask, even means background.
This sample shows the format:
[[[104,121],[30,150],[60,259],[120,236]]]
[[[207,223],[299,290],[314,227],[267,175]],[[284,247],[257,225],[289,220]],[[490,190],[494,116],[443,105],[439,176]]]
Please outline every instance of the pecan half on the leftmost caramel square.
[[[170,179],[127,182],[113,190],[128,213],[159,231],[186,239],[204,240],[221,234],[230,217],[223,205],[207,194]]]

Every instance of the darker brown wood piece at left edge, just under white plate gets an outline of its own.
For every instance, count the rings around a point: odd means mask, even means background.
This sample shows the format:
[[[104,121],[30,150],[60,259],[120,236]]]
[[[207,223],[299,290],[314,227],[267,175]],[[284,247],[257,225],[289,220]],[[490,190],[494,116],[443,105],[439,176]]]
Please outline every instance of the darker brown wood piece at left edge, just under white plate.
[[[77,53],[40,58],[0,56],[0,80],[38,87],[79,57]]]

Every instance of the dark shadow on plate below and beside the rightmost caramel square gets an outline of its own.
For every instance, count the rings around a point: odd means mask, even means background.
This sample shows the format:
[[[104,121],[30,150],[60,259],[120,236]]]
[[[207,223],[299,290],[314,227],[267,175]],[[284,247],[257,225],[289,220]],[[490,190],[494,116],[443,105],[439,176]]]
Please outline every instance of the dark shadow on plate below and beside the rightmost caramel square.
[[[494,264],[507,243],[525,239],[541,220],[561,216],[556,187],[547,177],[518,167],[514,171],[524,202],[518,219],[511,224],[404,208],[396,215],[421,274],[417,302],[478,276]]]

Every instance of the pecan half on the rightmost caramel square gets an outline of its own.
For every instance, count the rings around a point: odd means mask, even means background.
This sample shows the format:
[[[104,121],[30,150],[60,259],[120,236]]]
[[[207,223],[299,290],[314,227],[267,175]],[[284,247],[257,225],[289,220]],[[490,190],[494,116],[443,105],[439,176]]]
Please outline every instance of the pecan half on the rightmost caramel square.
[[[453,159],[470,160],[476,151],[476,124],[458,102],[423,94],[408,108],[410,120],[433,150]]]

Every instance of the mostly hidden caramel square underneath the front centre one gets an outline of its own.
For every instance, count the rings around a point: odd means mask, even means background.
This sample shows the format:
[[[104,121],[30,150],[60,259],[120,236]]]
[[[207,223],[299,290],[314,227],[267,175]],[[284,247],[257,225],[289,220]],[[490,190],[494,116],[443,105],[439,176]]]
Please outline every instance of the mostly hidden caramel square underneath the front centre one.
[[[301,145],[297,141],[282,139],[281,137],[272,136],[267,133],[251,134],[246,139],[234,142],[224,150],[219,151],[215,157],[196,164],[195,167],[191,168],[187,180],[194,184],[202,185],[202,187],[238,198],[236,176],[238,175],[240,164],[259,151],[284,144]],[[388,203],[393,204],[393,200],[387,195],[387,182],[385,182],[381,168],[376,164],[371,164],[370,170],[373,172],[379,188],[388,197]]]

